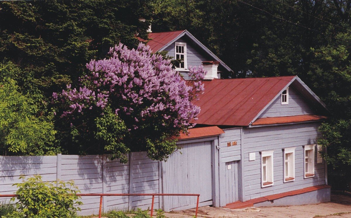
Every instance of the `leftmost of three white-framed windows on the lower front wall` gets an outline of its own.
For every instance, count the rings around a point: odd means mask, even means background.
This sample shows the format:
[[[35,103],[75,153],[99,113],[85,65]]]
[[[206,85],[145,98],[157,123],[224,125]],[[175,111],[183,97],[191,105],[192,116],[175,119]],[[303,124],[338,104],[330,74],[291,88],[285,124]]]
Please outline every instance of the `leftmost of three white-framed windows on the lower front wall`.
[[[272,186],[274,184],[273,175],[273,152],[274,151],[261,151],[261,188]],[[266,157],[266,164],[263,164],[263,158]],[[268,158],[269,159],[268,159]],[[266,181],[263,181],[263,168],[266,166]]]

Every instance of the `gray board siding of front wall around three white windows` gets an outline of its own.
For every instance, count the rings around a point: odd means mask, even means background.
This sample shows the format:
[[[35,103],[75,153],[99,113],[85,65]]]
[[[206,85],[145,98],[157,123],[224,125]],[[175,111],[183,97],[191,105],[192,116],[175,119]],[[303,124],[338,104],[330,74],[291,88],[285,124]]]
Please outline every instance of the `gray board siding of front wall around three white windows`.
[[[320,123],[281,125],[273,127],[247,128],[244,144],[244,200],[273,195],[287,191],[325,184],[324,161],[317,164],[315,151],[315,175],[303,178],[303,145],[315,144],[322,137],[318,132]],[[283,183],[283,148],[295,149],[295,181]],[[261,188],[261,163],[259,151],[274,150],[274,185]],[[255,161],[249,161],[249,153],[255,152]]]

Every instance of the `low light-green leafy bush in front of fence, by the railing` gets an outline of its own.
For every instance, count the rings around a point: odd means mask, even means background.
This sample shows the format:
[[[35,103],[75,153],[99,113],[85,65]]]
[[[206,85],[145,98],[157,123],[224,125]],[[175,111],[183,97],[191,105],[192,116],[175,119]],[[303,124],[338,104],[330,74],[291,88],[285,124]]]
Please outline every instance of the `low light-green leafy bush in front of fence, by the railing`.
[[[80,197],[78,187],[71,182],[42,182],[41,176],[27,178],[24,176],[23,183],[16,183],[19,212],[9,213],[3,217],[31,217],[31,218],[61,218],[75,217],[80,211],[77,201]],[[11,200],[15,200],[12,198]]]

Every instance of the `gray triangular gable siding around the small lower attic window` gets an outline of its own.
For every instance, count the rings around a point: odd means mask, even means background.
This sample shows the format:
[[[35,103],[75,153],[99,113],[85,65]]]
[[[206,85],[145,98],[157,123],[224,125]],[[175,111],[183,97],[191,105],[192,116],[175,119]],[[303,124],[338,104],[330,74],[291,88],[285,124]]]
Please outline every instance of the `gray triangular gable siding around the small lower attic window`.
[[[293,88],[289,88],[289,104],[283,104],[278,98],[259,116],[263,117],[282,117],[304,114],[315,114],[311,105]]]

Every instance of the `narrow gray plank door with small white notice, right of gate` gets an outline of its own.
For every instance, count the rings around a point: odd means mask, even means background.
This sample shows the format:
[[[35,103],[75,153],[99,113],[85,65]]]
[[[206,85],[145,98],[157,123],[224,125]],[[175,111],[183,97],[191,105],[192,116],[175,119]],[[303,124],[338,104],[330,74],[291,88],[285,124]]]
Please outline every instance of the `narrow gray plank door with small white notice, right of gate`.
[[[228,165],[231,169],[228,169]],[[238,161],[225,163],[225,204],[236,202],[238,198]]]

